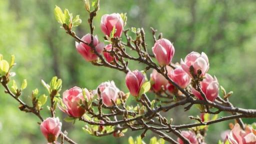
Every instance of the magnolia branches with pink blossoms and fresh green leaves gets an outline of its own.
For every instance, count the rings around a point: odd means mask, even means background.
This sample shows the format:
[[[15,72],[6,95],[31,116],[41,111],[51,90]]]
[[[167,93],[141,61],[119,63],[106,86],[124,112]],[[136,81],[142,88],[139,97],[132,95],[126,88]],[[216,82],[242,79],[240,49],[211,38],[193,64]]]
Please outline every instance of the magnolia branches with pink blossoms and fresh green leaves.
[[[190,52],[180,63],[173,63],[171,59],[175,49],[172,42],[163,38],[162,34],[156,38],[156,30],[151,28],[154,45],[150,48],[145,43],[143,28],[124,28],[127,20],[125,13],[101,16],[101,22],[96,25],[100,25],[105,36],[101,38],[104,42],[100,42],[93,33],[93,18],[99,10],[99,0],[85,0],[85,9],[89,13],[90,33],[81,38],[72,30],[81,23],[79,15],[73,16],[67,9],[62,12],[58,6],[54,14],[61,28],[76,40],[75,47],[81,57],[95,66],[106,66],[126,73],[125,83],[129,91],[122,91],[114,81],[105,81],[95,89],[75,86],[60,93],[61,79],[53,77],[48,84],[41,81],[48,93],[39,94],[34,89],[30,95],[32,104],[26,104],[20,99],[26,80],[20,87],[14,80],[9,82],[15,75],[11,72],[14,56],[10,62],[0,56],[0,82],[5,93],[20,104],[21,111],[33,113],[39,118],[41,133],[49,143],[76,143],[67,136],[67,132],[61,131],[61,119],[55,115],[56,108],[68,115],[63,119],[65,121],[83,121],[83,130],[94,136],[120,137],[127,129],[142,131],[135,140],[130,137],[129,143],[144,143],[141,139],[147,131],[160,138],[157,140],[153,137],[150,143],[164,143],[164,140],[170,143],[205,143],[208,125],[230,119],[235,119],[235,123],[229,124],[231,130],[225,131],[218,143],[256,143],[254,125],[244,124],[241,120],[256,117],[256,109],[238,108],[229,102],[232,92],[226,92],[219,86],[217,78],[207,73],[209,60],[204,52]],[[129,30],[133,32],[133,38],[128,35]],[[121,35],[124,35],[124,40],[120,38]],[[129,54],[130,51],[135,51],[136,56]],[[129,69],[130,60],[146,66]],[[146,77],[149,69],[152,69],[150,80]],[[219,94],[219,87],[222,94]],[[146,95],[148,92],[154,93],[155,98],[149,99]],[[136,106],[127,105],[127,98],[132,98]],[[40,114],[46,100],[50,101],[47,106],[49,117]],[[182,108],[182,105],[184,111],[195,105],[199,116],[189,116],[193,122],[180,125],[173,125],[172,118],[163,116],[174,107]],[[229,116],[217,118],[219,112],[227,112]]]

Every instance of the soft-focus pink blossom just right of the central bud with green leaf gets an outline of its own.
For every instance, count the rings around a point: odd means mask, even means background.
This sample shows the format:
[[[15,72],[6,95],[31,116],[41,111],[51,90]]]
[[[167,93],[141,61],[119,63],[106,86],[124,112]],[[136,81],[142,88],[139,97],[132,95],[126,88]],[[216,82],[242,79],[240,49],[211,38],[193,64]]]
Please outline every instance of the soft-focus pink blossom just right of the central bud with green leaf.
[[[165,89],[166,85],[168,84],[168,80],[155,69],[153,69],[152,73],[150,74],[150,80],[153,82],[151,88],[154,92],[160,91],[162,86]]]

